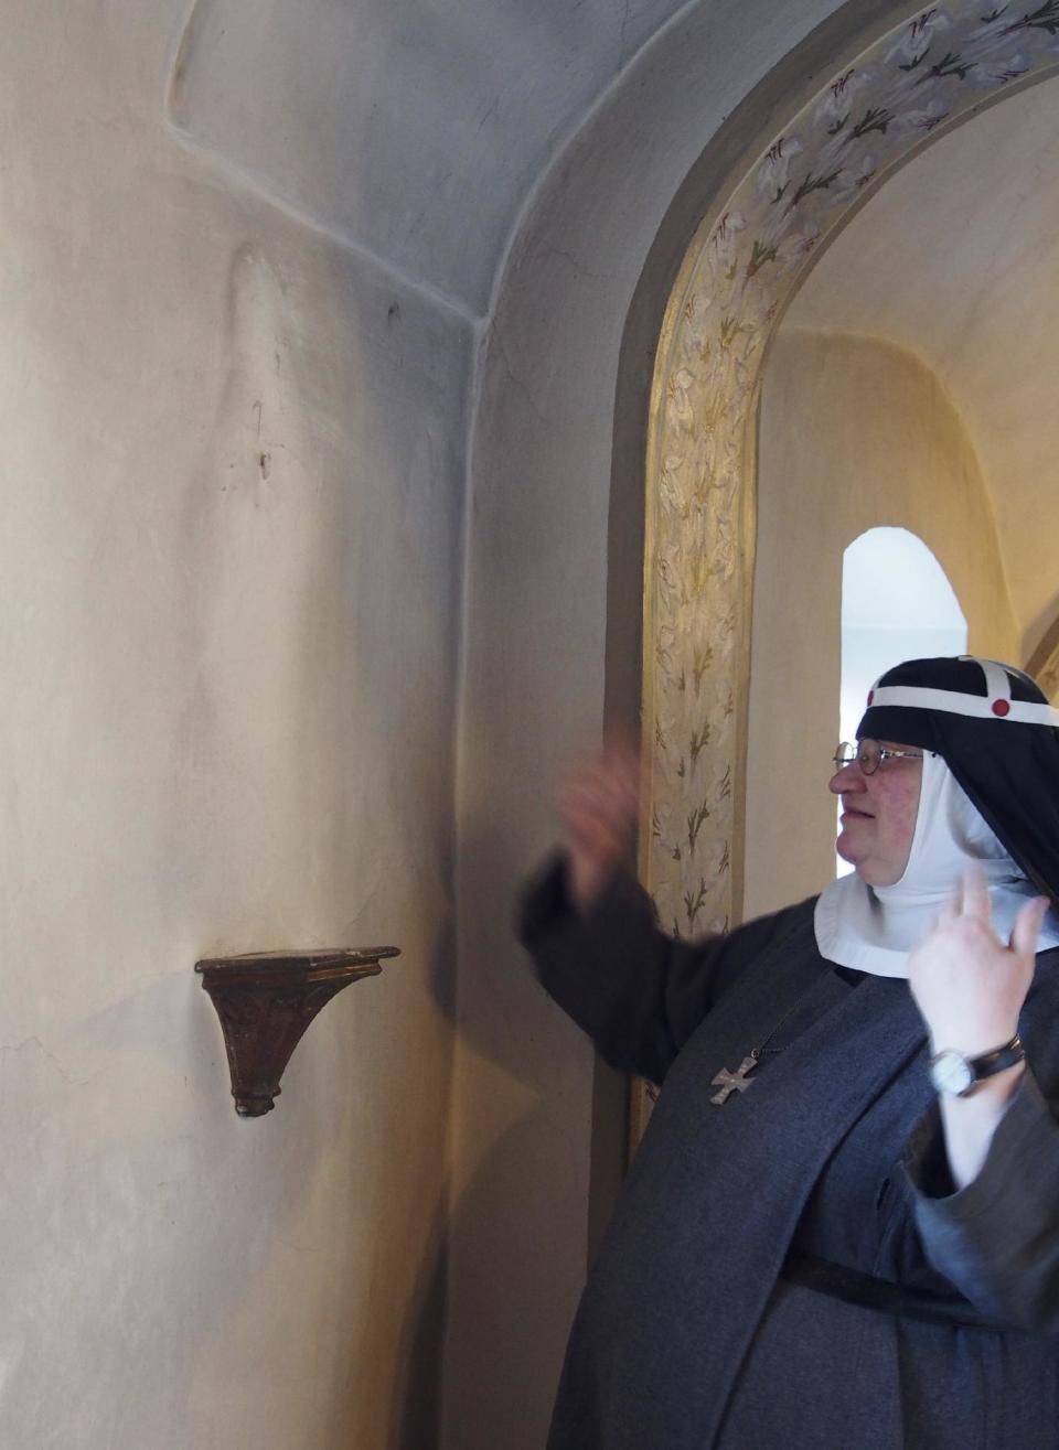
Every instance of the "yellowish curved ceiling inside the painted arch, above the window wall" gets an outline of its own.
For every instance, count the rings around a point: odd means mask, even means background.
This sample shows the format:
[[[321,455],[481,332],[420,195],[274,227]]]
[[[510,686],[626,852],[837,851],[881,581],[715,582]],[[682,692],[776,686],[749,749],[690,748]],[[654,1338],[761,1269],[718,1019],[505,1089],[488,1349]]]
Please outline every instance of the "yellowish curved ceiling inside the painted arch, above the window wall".
[[[883,336],[933,368],[978,451],[1030,652],[1059,603],[1059,78],[886,181],[783,326]]]

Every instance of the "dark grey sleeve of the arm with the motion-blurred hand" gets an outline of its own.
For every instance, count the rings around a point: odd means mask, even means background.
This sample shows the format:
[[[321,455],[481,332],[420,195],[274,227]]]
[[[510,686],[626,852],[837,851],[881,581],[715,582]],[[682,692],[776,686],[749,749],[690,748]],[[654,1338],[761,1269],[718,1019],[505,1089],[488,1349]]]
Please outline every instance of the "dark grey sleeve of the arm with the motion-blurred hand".
[[[650,896],[627,873],[582,916],[557,856],[522,899],[518,935],[544,989],[606,1061],[660,1083],[728,983],[809,909],[802,903],[728,935],[680,941],[660,929]]]

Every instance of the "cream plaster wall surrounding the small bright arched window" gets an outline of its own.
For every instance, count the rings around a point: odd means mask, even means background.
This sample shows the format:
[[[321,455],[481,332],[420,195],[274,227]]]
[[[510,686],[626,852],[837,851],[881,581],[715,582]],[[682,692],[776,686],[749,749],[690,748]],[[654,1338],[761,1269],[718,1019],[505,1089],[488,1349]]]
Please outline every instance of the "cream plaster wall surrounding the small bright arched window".
[[[746,916],[801,900],[834,876],[827,782],[843,552],[876,525],[910,529],[933,551],[972,652],[1017,658],[988,492],[937,377],[878,338],[783,326],[766,364],[759,434]],[[899,579],[892,589],[897,599]]]

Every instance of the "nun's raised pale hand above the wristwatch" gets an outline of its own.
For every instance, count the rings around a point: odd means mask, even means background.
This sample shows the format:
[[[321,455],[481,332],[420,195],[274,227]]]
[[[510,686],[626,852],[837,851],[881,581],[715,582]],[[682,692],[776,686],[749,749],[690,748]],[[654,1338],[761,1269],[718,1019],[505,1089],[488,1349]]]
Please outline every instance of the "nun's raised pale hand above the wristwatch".
[[[975,1057],[1015,1035],[1046,911],[1043,896],[1027,902],[1011,940],[1002,942],[992,928],[985,874],[968,871],[934,929],[908,958],[908,985],[934,1051],[955,1048]]]

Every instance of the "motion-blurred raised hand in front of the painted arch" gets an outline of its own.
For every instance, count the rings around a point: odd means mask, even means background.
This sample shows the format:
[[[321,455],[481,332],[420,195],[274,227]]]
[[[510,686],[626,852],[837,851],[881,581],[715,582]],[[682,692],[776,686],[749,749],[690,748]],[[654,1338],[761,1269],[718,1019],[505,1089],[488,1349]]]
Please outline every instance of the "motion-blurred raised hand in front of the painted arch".
[[[622,734],[576,770],[559,800],[567,835],[567,883],[586,912],[611,877],[628,863],[640,812],[640,757]]]

